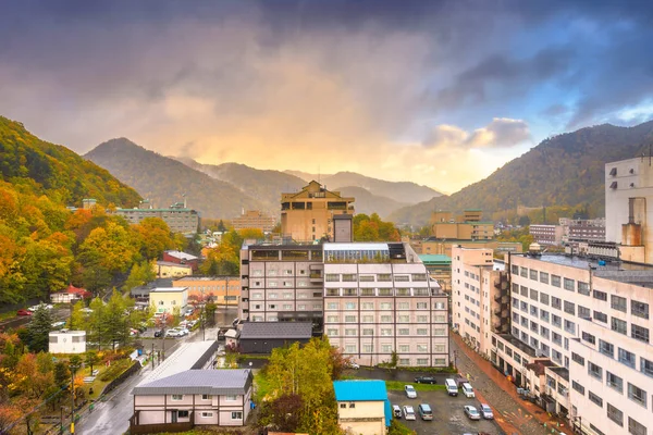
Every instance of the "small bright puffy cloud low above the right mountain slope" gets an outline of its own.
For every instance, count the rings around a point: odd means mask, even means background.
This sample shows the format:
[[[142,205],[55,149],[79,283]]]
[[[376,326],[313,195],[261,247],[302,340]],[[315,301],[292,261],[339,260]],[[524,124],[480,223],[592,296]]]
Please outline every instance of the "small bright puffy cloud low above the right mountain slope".
[[[455,125],[438,125],[423,140],[428,148],[509,148],[530,139],[528,124],[521,120],[495,117],[471,133]]]

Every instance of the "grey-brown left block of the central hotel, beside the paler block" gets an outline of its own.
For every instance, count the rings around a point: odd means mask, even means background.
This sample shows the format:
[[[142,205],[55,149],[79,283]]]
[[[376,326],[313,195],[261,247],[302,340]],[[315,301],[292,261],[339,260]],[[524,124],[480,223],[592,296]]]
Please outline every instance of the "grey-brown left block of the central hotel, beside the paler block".
[[[323,269],[321,245],[245,245],[238,318],[312,321],[321,332]]]

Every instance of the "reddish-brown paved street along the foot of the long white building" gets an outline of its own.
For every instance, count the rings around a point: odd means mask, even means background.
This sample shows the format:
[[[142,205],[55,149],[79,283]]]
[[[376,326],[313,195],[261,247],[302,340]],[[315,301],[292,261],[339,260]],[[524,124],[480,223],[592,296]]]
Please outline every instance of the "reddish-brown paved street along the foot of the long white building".
[[[510,398],[516,402],[516,405],[518,407],[520,407],[525,410],[523,412],[521,412],[521,409],[518,409],[518,411],[519,411],[518,413],[520,415],[515,415],[515,417],[519,417],[519,420],[534,419],[542,425],[542,427],[546,427],[546,428],[549,428],[549,431],[551,431],[552,428],[555,428],[555,431],[557,431],[557,433],[568,434],[568,435],[572,434],[572,431],[570,427],[568,427],[567,422],[556,419],[554,417],[550,417],[547,412],[545,412],[542,408],[540,408],[535,403],[532,403],[528,400],[523,400],[517,394],[517,387],[515,386],[515,384],[513,384],[510,381],[508,381],[506,378],[506,376],[504,376],[502,373],[500,373],[492,365],[492,363],[490,361],[486,361],[479,353],[475,352],[469,347],[467,347],[467,345],[463,341],[463,338],[458,334],[455,334],[453,332],[449,332],[449,334],[452,336],[452,339],[454,341],[456,341],[458,349],[461,352],[464,352],[465,356],[467,358],[469,358],[471,360],[471,362],[484,375],[486,375],[490,381],[492,381],[501,389],[503,389],[508,396],[510,396]],[[463,375],[465,375],[465,373],[463,373]],[[492,403],[490,403],[490,405],[492,405]],[[501,411],[502,411],[501,412],[502,414],[505,414],[506,410],[501,410]],[[502,428],[507,434],[521,433],[519,427],[515,427],[515,425],[510,424],[509,422],[505,421],[504,419],[501,419],[501,420],[497,419],[497,423],[500,423]],[[546,426],[544,426],[544,424],[546,424]]]

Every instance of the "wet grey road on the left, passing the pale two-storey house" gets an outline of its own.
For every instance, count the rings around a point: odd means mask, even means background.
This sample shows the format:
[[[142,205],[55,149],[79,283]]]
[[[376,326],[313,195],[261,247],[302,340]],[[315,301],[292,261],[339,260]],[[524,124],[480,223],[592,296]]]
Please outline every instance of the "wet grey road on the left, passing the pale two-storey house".
[[[206,330],[207,339],[215,339],[217,336],[217,327]],[[150,339],[150,341],[152,339]],[[201,340],[201,330],[190,333],[190,335],[186,338],[167,338],[165,355],[171,356],[182,343]],[[153,341],[162,340],[160,338],[156,338]],[[128,377],[122,385],[107,395],[108,399],[106,401],[96,403],[95,411],[91,413],[89,413],[88,410],[85,410],[82,413],[82,420],[75,427],[75,434],[109,435],[125,433],[130,428],[130,418],[134,413],[132,389],[138,385],[151,372],[151,365],[147,365],[140,372]]]

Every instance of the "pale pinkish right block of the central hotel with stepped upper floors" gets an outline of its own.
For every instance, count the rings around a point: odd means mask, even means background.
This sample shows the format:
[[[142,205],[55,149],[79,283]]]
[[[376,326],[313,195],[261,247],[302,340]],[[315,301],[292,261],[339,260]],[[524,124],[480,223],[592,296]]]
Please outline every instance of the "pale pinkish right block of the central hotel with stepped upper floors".
[[[447,296],[408,244],[324,244],[324,332],[365,365],[448,365]]]

